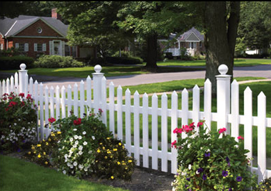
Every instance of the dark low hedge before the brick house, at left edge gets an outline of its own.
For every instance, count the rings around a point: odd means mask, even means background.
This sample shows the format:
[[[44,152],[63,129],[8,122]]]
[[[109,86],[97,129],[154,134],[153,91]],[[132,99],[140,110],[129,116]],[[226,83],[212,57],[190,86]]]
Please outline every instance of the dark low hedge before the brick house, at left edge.
[[[0,69],[19,69],[19,65],[25,63],[27,68],[33,67],[34,59],[27,56],[3,56],[0,57]]]

